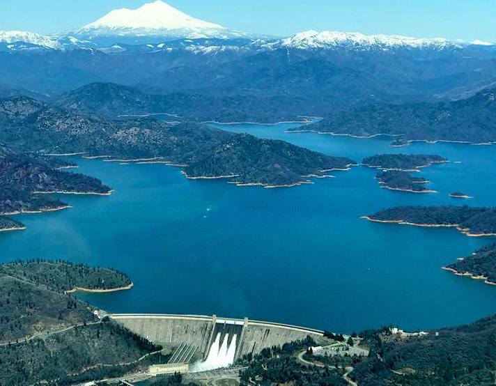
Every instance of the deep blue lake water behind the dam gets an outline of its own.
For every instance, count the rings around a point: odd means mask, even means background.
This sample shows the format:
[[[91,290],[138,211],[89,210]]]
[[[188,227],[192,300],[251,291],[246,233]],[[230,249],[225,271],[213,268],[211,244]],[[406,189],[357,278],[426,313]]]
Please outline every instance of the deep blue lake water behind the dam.
[[[64,258],[131,275],[131,291],[82,295],[113,312],[217,314],[352,332],[468,323],[496,312],[496,287],[441,270],[488,244],[454,229],[374,224],[359,217],[397,205],[496,206],[496,147],[288,134],[291,124],[224,125],[361,161],[375,153],[433,153],[437,194],[381,189],[355,167],[314,185],[265,190],[192,181],[160,164],[75,159],[109,197],[63,196],[73,208],[17,216],[28,229],[0,235],[1,261]],[[456,201],[449,193],[473,195]]]

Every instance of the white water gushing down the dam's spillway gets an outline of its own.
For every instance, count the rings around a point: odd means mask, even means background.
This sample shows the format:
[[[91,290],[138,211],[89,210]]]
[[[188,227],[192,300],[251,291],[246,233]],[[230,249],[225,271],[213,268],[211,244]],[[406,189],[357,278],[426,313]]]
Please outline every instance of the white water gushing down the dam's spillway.
[[[210,346],[207,359],[204,362],[196,362],[192,365],[192,372],[208,371],[222,369],[223,367],[231,366],[234,363],[234,355],[236,353],[236,339],[238,336],[233,335],[229,342],[229,335],[225,334],[224,339],[221,338],[221,333],[217,333],[215,341]],[[222,339],[222,342],[221,342]]]

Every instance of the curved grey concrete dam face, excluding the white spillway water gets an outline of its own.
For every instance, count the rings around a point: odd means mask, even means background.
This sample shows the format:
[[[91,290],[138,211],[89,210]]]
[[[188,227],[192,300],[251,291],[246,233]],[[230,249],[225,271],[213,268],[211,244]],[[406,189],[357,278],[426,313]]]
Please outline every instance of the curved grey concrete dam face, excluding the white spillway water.
[[[233,334],[237,336],[235,360],[247,354],[259,354],[264,348],[282,346],[308,336],[313,339],[323,337],[323,331],[320,330],[251,321],[248,318],[162,314],[112,314],[109,317],[140,337],[164,348],[176,348],[183,343],[194,346],[203,359],[207,357],[217,334],[227,336],[226,340],[229,341]]]

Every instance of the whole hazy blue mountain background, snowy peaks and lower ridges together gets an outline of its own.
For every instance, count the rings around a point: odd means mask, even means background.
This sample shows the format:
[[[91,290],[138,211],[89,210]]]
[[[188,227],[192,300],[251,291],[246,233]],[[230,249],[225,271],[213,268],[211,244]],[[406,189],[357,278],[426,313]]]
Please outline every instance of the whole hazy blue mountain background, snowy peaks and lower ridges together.
[[[496,46],[481,40],[337,31],[271,38],[199,20],[163,1],[113,10],[53,36],[0,32],[0,63],[0,95],[56,98],[110,82],[194,95],[222,111],[249,101],[238,118],[261,114],[263,121],[378,102],[458,100],[496,84]]]

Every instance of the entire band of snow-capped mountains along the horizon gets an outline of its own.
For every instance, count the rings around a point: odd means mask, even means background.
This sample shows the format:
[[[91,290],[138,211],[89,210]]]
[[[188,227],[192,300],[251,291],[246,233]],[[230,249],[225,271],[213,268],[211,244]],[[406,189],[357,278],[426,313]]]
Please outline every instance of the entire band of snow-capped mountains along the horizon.
[[[474,47],[478,51],[496,50],[496,45],[482,40],[461,42],[443,38],[367,36],[357,32],[339,31],[305,31],[288,38],[273,38],[234,31],[197,19],[161,0],[145,3],[137,9],[112,10],[80,29],[53,36],[24,31],[0,31],[0,45],[3,51],[100,49],[102,52],[117,53],[184,50],[203,55],[226,52],[246,54],[275,49],[375,52],[409,49],[444,51]]]

